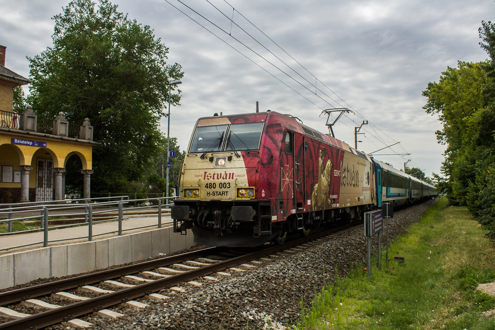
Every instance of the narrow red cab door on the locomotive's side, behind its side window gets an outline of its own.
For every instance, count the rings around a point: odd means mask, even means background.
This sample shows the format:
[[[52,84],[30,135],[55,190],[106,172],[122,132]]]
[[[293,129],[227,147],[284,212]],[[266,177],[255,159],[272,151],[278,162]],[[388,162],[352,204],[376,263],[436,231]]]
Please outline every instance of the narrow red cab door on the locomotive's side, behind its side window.
[[[299,133],[294,133],[294,204],[296,212],[303,212],[305,206],[305,136]]]

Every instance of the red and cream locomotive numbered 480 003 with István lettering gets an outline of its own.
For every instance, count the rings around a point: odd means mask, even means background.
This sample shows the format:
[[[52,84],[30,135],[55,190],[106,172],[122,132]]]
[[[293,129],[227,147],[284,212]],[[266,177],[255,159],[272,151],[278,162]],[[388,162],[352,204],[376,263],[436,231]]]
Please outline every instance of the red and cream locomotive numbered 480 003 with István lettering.
[[[377,205],[369,156],[269,110],[199,118],[179,183],[174,231],[209,246],[283,243]]]

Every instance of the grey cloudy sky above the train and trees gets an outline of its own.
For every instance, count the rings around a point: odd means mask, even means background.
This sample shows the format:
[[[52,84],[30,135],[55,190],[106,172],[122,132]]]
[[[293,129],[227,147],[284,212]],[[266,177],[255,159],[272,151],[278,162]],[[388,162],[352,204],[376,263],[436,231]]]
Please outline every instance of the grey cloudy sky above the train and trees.
[[[427,175],[439,172],[445,148],[437,144],[434,132],[441,125],[422,109],[421,92],[457,60],[487,58],[478,28],[495,19],[493,0],[181,0],[217,28],[178,0],[168,1],[225,43],[164,0],[113,3],[153,28],[170,48],[169,62],[183,67],[181,106],[170,117],[170,134],[182,149],[196,119],[214,112],[252,112],[259,101],[260,110],[290,113],[328,132],[321,110],[344,106],[356,114],[341,118],[337,138],[353,145],[355,123],[365,118],[370,125],[363,126],[358,149],[370,153],[400,141],[383,153],[410,153],[405,160]],[[51,17],[67,3],[0,0],[6,67],[29,76],[26,56],[51,46]],[[163,119],[165,132],[166,125]],[[376,158],[403,167],[400,156]]]

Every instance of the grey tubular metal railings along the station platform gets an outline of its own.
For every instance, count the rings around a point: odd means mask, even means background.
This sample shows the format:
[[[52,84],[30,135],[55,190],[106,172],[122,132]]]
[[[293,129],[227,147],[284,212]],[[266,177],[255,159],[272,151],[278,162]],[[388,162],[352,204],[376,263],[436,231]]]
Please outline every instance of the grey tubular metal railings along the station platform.
[[[128,196],[125,196],[128,197]],[[108,197],[104,198],[107,199]],[[162,222],[161,222],[161,216],[163,213],[163,207],[166,206],[172,206],[173,204],[162,204],[162,200],[170,200],[170,199],[175,199],[177,197],[158,197],[158,198],[147,198],[147,199],[135,199],[135,200],[124,200],[121,199],[120,201],[113,201],[113,202],[100,202],[100,203],[87,203],[87,204],[78,204],[78,205],[67,205],[61,207],[61,205],[26,205],[26,206],[20,206],[16,208],[12,208],[11,206],[5,210],[5,211],[0,211],[0,214],[8,214],[8,219],[0,220],[0,223],[5,223],[8,222],[9,224],[9,232],[8,233],[0,233],[0,236],[3,235],[8,235],[8,234],[20,234],[20,233],[27,233],[27,232],[34,232],[34,231],[43,231],[44,232],[44,239],[42,242],[33,242],[33,243],[28,243],[28,244],[23,244],[23,245],[16,245],[16,246],[9,246],[5,248],[0,248],[0,251],[4,250],[11,250],[15,248],[20,248],[20,247],[26,247],[30,245],[38,245],[43,243],[44,247],[48,246],[48,243],[51,242],[58,242],[58,241],[65,241],[65,240],[73,240],[73,239],[81,239],[81,238],[88,238],[89,241],[93,240],[93,237],[95,236],[101,236],[104,234],[109,234],[109,233],[115,233],[118,232],[118,235],[122,235],[123,231],[127,230],[134,230],[134,229],[141,229],[141,228],[148,228],[148,227],[153,227],[156,226],[158,228],[161,228]],[[103,199],[103,198],[101,198]],[[82,199],[85,200],[85,199]],[[157,205],[144,205],[141,207],[129,207],[124,210],[124,204],[129,204],[131,202],[150,202],[150,201],[157,201]],[[57,201],[53,201],[57,202]],[[18,203],[18,204],[29,204],[29,203]],[[57,206],[57,207],[50,207],[50,206]],[[117,206],[117,209],[113,210],[101,210],[101,211],[95,211],[93,212],[93,209],[95,207],[101,207],[101,206]],[[85,217],[86,220],[85,222],[82,223],[73,223],[73,224],[62,224],[62,225],[56,225],[56,226],[49,226],[49,212],[50,211],[55,211],[55,210],[66,210],[66,209],[74,209],[74,208],[82,208],[84,207],[84,212],[81,213],[67,213],[67,214],[52,214],[52,217],[63,217],[63,216],[82,216]],[[136,209],[157,209],[157,216],[158,216],[158,221],[157,224],[152,224],[152,225],[146,225],[146,226],[138,226],[138,227],[131,227],[131,228],[122,228],[122,221],[123,220],[128,220],[128,217],[124,217],[124,211],[130,211],[130,210],[136,210]],[[21,212],[40,212],[39,216],[26,216],[26,217],[19,217],[19,218],[14,218],[12,219],[12,214],[16,213],[21,213]],[[97,220],[93,221],[93,215],[95,214],[105,214],[105,213],[118,213],[117,217],[112,218],[112,219],[105,219],[105,220]],[[35,229],[28,229],[28,230],[20,230],[20,231],[11,231],[11,226],[12,226],[12,221],[19,221],[19,220],[32,220],[32,219],[40,219],[41,226],[40,228],[35,228]],[[99,223],[99,222],[109,222],[109,221],[118,221],[118,229],[114,231],[109,231],[106,233],[98,233],[98,234],[93,234],[93,224]],[[172,223],[172,222],[166,222],[167,224]],[[80,237],[72,237],[72,238],[63,238],[63,239],[57,239],[57,240],[49,240],[48,239],[48,234],[49,234],[49,229],[56,229],[56,228],[64,228],[64,227],[70,227],[70,226],[80,226],[81,224],[88,225],[88,235],[87,236],[80,236]]]

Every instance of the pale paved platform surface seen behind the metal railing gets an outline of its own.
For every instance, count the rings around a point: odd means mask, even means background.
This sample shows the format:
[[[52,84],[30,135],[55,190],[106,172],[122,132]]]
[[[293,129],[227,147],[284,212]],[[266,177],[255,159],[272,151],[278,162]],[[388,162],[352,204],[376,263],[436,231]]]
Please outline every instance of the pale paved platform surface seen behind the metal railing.
[[[161,217],[162,227],[170,227],[172,225],[172,223],[173,222],[172,222],[172,219],[170,218],[170,216],[168,216],[168,217],[162,216]],[[141,229],[125,230],[125,229],[129,229],[129,228],[133,228],[133,227],[140,227],[140,226],[147,226],[147,225],[153,225],[153,226],[150,226],[147,228],[141,228]],[[122,221],[122,234],[131,234],[131,233],[136,233],[136,232],[148,231],[148,230],[152,230],[152,229],[156,229],[156,228],[158,228],[158,217],[131,218],[131,219]],[[70,228],[53,229],[53,230],[49,230],[48,239],[49,240],[55,240],[55,239],[62,239],[62,238],[87,236],[88,235],[88,229],[89,229],[88,225],[80,225],[77,227],[70,227]],[[106,222],[106,223],[97,223],[97,224],[93,225],[93,235],[107,232],[107,231],[113,231],[113,230],[118,230],[118,221],[111,221],[111,222]],[[0,236],[0,248],[40,242],[40,241],[43,241],[43,234],[44,234],[43,231],[40,231],[40,232]],[[93,241],[98,241],[101,239],[106,239],[106,238],[114,237],[114,236],[118,236],[118,233],[96,236],[96,237],[93,237]],[[64,240],[64,241],[60,241],[60,242],[49,243],[49,246],[66,245],[66,244],[71,244],[71,243],[79,243],[79,242],[87,242],[87,241],[88,241],[88,238],[69,239],[69,240]],[[43,244],[30,245],[30,246],[25,246],[25,247],[21,247],[21,248],[11,249],[11,250],[3,250],[3,251],[0,251],[0,255],[37,249],[40,247],[43,247]]]

